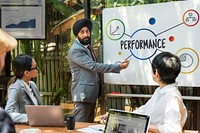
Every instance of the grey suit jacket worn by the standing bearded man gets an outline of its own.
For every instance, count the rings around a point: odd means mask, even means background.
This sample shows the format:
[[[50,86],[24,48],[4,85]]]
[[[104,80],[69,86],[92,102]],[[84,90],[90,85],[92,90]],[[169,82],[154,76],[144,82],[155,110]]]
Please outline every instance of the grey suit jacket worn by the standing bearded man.
[[[71,94],[75,102],[96,102],[99,94],[99,74],[120,72],[119,64],[95,62],[92,55],[78,40],[75,40],[68,52],[68,61],[72,73]]]

